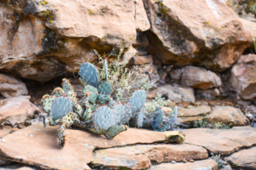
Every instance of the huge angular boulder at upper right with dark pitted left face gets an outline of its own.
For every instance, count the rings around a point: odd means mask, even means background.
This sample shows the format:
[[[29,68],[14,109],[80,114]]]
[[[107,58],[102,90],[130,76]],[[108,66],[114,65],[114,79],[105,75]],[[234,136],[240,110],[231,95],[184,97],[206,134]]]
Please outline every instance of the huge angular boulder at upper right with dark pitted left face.
[[[164,65],[201,65],[224,71],[250,45],[236,14],[220,1],[144,1],[149,42]]]

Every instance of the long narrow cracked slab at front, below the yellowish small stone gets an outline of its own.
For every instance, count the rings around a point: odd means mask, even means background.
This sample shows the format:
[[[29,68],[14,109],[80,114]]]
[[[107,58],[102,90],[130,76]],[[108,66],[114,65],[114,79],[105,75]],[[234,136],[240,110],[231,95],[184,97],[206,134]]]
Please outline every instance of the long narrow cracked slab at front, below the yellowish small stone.
[[[96,167],[145,169],[152,162],[207,159],[207,150],[191,144],[139,144],[121,148],[96,150],[92,164]]]

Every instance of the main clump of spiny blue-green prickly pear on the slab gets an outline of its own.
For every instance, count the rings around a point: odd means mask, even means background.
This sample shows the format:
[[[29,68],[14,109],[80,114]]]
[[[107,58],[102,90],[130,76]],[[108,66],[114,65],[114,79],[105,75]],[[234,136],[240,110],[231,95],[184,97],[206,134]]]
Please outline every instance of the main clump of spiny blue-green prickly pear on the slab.
[[[44,116],[44,127],[58,125],[60,147],[64,147],[65,128],[75,126],[91,133],[103,134],[112,139],[118,133],[127,130],[126,124],[132,119],[137,127],[143,127],[143,105],[146,93],[138,90],[132,94],[127,103],[119,103],[111,98],[111,84],[108,82],[107,60],[104,63],[105,79],[99,81],[96,67],[90,63],[80,66],[79,76],[86,82],[82,106],[79,105],[73,86],[63,79],[62,88],[55,88],[52,95],[44,95],[43,109],[48,113]],[[84,108],[84,109],[83,109]]]

